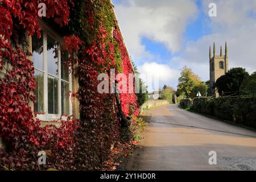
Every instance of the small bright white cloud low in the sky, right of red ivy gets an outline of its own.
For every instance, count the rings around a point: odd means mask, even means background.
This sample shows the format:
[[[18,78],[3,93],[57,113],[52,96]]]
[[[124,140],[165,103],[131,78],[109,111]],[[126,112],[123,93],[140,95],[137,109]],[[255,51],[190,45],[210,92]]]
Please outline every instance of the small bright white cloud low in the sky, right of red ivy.
[[[146,62],[138,67],[142,80],[147,82],[148,91],[163,87],[164,84],[174,85],[179,71],[171,69],[167,64],[158,64],[156,62]],[[152,84],[154,82],[154,85]]]

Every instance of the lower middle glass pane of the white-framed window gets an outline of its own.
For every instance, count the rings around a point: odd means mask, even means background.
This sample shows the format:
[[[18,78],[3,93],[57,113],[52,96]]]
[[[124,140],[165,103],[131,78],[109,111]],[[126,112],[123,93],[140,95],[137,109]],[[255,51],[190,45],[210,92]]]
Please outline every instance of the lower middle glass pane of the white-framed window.
[[[48,114],[59,114],[58,79],[48,76]]]

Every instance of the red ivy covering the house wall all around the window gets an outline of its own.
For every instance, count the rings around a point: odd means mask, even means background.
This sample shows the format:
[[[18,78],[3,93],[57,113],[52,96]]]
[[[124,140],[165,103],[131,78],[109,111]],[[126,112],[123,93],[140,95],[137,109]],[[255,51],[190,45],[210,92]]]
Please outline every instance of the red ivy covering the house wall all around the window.
[[[37,153],[49,152],[45,168],[98,169],[110,153],[110,146],[119,140],[120,113],[114,94],[97,92],[98,73],[109,73],[115,68],[114,42],[118,43],[122,55],[123,72],[133,73],[129,55],[121,34],[114,31],[110,40],[103,23],[96,26],[93,1],[85,0],[83,5],[86,28],[97,30],[88,43],[82,34],[65,36],[63,49],[70,54],[79,51],[77,60],[69,64],[79,65],[79,93],[72,96],[80,100],[79,120],[63,121],[59,129],[55,126],[40,127],[34,119],[31,105],[35,102],[34,65],[28,59],[26,33],[39,34],[37,0],[3,0],[0,6],[0,137],[6,143],[7,151],[0,151],[0,166],[15,169],[40,169]],[[71,0],[45,0],[47,17],[54,18],[59,26],[69,23]],[[109,1],[99,1],[101,5]],[[104,4],[105,3],[105,4]],[[81,28],[81,27],[73,27]],[[40,34],[39,34],[40,36]],[[120,94],[123,113],[138,115],[138,101],[134,93]]]

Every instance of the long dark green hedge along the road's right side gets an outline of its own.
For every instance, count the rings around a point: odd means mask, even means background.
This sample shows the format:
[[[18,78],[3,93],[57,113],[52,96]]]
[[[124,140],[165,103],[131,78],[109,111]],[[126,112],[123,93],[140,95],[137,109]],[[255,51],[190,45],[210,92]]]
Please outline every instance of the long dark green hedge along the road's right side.
[[[253,127],[256,129],[256,99],[255,98],[195,98],[192,106],[188,100],[180,102],[180,107],[212,115],[220,119]]]

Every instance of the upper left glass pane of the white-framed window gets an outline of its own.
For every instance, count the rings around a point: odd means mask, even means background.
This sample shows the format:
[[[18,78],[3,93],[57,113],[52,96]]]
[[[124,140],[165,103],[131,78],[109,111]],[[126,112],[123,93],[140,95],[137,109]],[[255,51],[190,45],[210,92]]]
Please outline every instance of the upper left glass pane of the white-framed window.
[[[44,69],[43,62],[43,32],[41,32],[41,38],[38,39],[38,35],[35,33],[32,36],[32,59],[34,67],[40,70]]]

